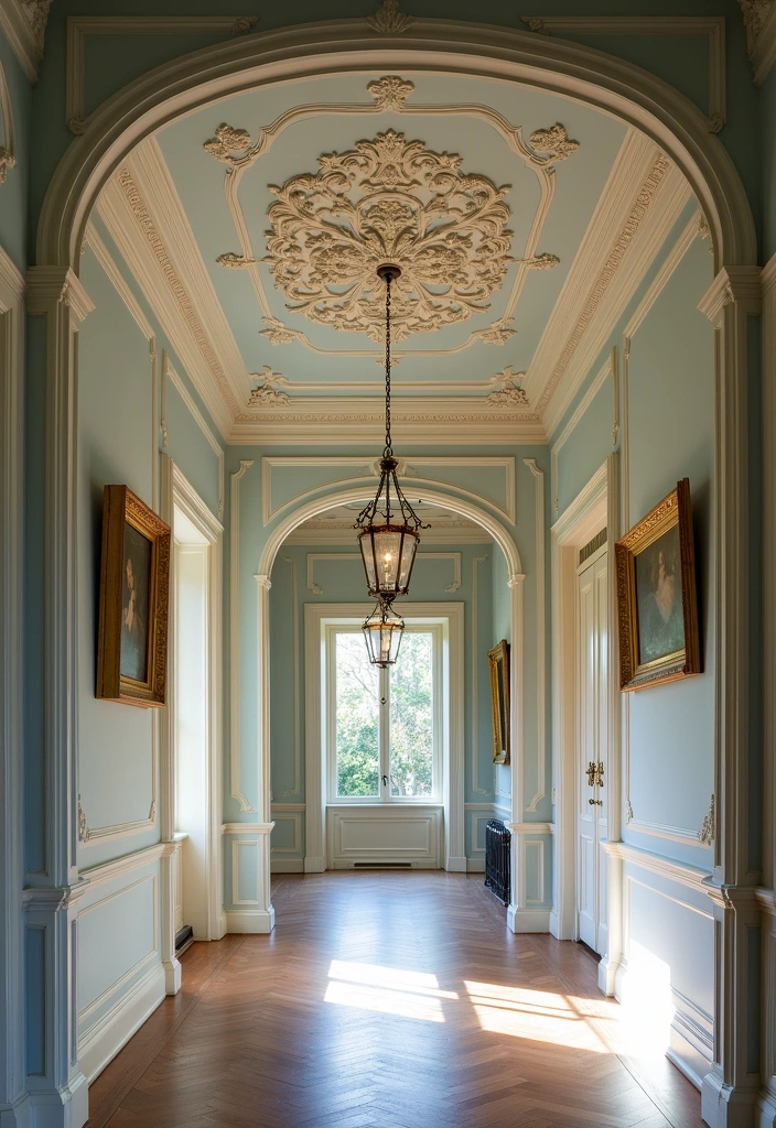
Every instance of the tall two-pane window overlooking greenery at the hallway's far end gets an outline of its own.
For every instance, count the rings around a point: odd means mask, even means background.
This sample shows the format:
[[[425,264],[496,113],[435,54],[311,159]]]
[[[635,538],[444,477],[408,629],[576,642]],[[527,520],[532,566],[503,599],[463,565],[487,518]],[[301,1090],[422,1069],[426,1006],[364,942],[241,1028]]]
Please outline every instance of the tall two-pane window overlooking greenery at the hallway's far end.
[[[329,627],[327,651],[329,802],[438,801],[441,629],[408,622],[387,670],[356,624]]]

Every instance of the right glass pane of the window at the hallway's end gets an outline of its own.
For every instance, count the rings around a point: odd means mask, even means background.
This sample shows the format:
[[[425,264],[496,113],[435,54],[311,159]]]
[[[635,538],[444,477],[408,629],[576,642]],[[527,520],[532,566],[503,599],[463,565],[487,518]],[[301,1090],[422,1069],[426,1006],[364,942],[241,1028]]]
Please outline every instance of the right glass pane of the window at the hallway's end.
[[[390,669],[390,793],[434,793],[433,636],[405,631]]]

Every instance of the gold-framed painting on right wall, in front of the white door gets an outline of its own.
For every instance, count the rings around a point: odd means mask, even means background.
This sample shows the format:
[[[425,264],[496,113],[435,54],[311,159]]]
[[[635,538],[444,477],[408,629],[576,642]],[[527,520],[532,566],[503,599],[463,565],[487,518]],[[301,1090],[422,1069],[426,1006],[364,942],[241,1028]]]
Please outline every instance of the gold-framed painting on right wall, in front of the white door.
[[[689,478],[615,545],[620,689],[700,673]]]

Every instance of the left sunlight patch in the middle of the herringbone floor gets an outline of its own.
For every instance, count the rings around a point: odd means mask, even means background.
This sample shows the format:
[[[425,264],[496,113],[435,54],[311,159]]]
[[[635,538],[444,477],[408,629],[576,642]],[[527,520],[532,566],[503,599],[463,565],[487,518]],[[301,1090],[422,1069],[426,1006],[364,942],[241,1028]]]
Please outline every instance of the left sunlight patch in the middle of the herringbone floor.
[[[424,971],[333,960],[328,975],[324,1002],[362,1011],[444,1022],[442,1001],[458,998],[455,992],[441,990],[436,976]]]

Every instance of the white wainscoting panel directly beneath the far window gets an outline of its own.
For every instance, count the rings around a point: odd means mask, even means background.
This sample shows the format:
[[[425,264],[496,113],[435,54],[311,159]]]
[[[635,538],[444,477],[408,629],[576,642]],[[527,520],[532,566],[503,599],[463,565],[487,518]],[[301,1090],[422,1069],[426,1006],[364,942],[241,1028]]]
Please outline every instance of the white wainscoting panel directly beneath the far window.
[[[411,863],[439,870],[442,865],[442,808],[329,807],[329,869],[359,863]]]

